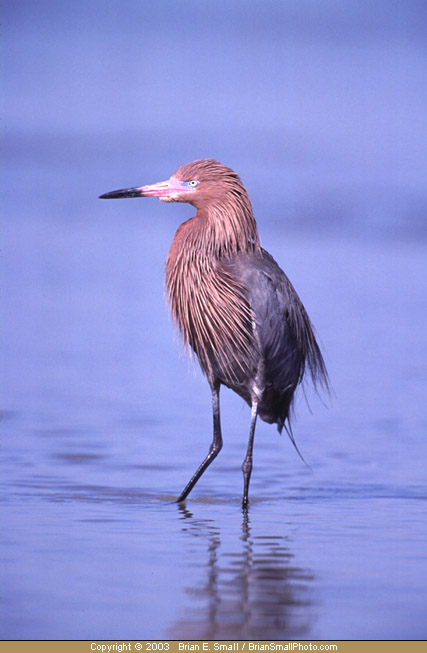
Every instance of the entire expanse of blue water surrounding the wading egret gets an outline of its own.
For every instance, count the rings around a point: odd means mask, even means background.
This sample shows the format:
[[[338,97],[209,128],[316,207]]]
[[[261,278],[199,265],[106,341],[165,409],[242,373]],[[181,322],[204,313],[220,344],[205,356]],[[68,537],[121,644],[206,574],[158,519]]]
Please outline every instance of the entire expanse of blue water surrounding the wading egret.
[[[393,10],[389,10],[392,6]],[[427,636],[425,8],[4,10],[0,635]],[[164,259],[190,206],[100,202],[213,156],[317,328],[294,432],[210,393]]]

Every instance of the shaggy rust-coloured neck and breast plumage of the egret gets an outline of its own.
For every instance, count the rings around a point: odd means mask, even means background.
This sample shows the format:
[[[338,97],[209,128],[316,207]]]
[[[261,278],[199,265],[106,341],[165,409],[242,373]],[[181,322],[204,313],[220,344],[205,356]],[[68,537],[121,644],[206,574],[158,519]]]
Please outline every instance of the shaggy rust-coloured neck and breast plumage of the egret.
[[[166,292],[183,341],[202,369],[224,375],[252,361],[256,343],[240,284],[217,262],[240,252],[261,251],[252,207],[246,196],[225,195],[205,202],[178,229],[166,261]]]

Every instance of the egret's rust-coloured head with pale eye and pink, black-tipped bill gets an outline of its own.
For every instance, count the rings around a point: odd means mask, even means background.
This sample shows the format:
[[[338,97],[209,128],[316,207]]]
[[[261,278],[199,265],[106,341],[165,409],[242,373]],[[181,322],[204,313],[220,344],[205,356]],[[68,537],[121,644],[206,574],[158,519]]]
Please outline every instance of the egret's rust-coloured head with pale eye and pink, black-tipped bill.
[[[198,159],[178,168],[166,181],[114,190],[100,198],[158,197],[162,202],[186,202],[203,209],[233,194],[247,197],[239,176],[214,159]]]

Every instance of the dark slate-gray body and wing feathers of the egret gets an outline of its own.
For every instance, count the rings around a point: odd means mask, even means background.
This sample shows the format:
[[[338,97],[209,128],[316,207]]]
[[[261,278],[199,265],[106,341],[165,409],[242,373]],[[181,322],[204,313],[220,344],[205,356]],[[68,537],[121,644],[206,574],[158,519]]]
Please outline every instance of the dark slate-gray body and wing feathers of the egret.
[[[236,254],[219,261],[219,266],[239,280],[253,318],[248,325],[253,346],[245,365],[234,365],[229,372],[211,358],[214,375],[249,405],[257,396],[261,419],[277,423],[281,431],[305,373],[310,373],[314,385],[328,384],[313,326],[291,282],[265,250]],[[203,360],[200,363],[204,368]]]

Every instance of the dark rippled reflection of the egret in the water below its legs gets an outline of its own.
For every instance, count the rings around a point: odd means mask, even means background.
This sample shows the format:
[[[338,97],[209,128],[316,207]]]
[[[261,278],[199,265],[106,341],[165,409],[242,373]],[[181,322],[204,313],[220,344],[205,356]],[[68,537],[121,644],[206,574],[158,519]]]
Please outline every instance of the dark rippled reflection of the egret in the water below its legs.
[[[194,518],[184,507],[180,511],[183,530],[206,540],[207,563],[200,586],[187,588],[189,616],[172,627],[171,638],[261,640],[309,635],[313,575],[295,566],[285,537],[251,535],[244,511],[239,546],[228,548],[213,522]]]

